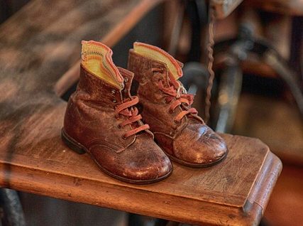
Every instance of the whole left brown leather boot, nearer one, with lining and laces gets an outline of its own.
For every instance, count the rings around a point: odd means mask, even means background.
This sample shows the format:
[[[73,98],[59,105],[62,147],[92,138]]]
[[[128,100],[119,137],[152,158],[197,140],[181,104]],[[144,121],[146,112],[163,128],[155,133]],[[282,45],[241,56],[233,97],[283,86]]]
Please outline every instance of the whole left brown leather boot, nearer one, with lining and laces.
[[[133,73],[117,68],[111,55],[106,45],[82,42],[80,79],[67,104],[62,140],[79,154],[89,153],[102,171],[121,181],[161,181],[172,172],[170,159],[134,107]]]

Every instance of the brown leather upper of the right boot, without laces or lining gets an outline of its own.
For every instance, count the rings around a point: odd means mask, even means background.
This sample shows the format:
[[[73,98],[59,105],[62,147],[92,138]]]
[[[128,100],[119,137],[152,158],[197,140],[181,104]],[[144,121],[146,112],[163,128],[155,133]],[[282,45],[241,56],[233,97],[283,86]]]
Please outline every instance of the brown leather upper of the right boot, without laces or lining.
[[[175,122],[180,112],[190,106],[181,104],[170,110],[167,95],[161,91],[160,82],[170,86],[166,65],[157,60],[129,51],[128,70],[134,72],[138,82],[136,95],[142,105],[141,114],[155,135],[155,141],[170,156],[189,164],[207,164],[226,155],[224,140],[204,124],[197,114],[187,114]],[[177,99],[177,98],[175,98]]]

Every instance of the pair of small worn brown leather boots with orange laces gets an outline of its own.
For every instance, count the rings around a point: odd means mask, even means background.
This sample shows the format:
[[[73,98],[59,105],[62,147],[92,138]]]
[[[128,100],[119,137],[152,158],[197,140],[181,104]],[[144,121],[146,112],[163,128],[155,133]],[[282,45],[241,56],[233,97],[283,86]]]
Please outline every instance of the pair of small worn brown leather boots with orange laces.
[[[145,43],[134,43],[128,70],[111,55],[102,43],[82,42],[79,84],[62,129],[67,146],[89,153],[110,176],[137,184],[170,176],[170,159],[190,167],[224,159],[224,140],[204,124],[178,81],[182,63]]]

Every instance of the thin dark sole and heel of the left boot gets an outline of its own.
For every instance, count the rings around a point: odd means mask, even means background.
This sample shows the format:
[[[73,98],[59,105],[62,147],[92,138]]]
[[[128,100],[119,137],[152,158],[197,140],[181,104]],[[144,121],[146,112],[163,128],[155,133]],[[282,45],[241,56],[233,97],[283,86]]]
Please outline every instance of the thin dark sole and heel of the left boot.
[[[150,184],[150,183],[156,183],[159,181],[164,180],[165,178],[167,178],[168,176],[170,176],[170,174],[172,174],[172,171],[170,171],[169,173],[165,174],[165,176],[161,176],[160,178],[157,179],[151,179],[151,180],[145,180],[145,181],[141,181],[141,180],[131,180],[128,178],[123,178],[121,176],[117,176],[114,173],[111,173],[109,171],[107,171],[105,168],[103,168],[94,158],[94,156],[92,156],[92,154],[87,150],[87,148],[85,148],[82,144],[80,144],[79,142],[75,141],[75,139],[72,139],[72,137],[68,136],[67,133],[64,131],[64,129],[62,128],[61,130],[61,139],[63,141],[63,143],[66,144],[66,146],[68,146],[70,149],[72,149],[72,151],[75,151],[77,154],[89,154],[89,156],[94,160],[95,163],[97,163],[97,166],[99,166],[99,168],[101,169],[101,171],[103,171],[104,173],[108,174],[109,176],[116,178],[119,181],[123,181],[123,182],[127,182],[127,183],[133,183],[133,184],[140,184],[140,185],[144,185],[144,184]]]

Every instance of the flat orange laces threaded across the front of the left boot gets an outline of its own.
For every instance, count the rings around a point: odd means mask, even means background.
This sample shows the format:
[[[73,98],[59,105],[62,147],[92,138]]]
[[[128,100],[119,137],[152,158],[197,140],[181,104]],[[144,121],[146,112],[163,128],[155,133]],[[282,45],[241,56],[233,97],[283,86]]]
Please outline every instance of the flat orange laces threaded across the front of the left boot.
[[[138,97],[133,96],[129,99],[130,100],[128,102],[123,102],[122,104],[117,105],[115,108],[116,117],[119,117],[119,114],[128,117],[125,121],[119,124],[119,128],[125,127],[128,124],[133,124],[134,122],[138,122],[139,127],[127,131],[125,134],[123,134],[123,139],[128,138],[128,136],[138,134],[138,132],[145,129],[150,129],[148,124],[143,124],[141,121],[139,121],[142,119],[141,114],[138,114],[138,109],[136,107],[133,107],[134,105],[138,104]]]

